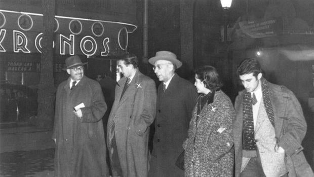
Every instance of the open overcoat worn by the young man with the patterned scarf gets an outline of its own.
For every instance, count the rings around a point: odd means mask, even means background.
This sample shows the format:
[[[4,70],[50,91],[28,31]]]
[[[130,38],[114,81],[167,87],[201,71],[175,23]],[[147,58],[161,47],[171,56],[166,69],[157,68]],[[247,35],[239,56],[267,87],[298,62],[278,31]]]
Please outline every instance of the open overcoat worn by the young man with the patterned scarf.
[[[307,127],[298,99],[285,86],[268,83],[268,88],[274,112],[275,135],[278,138],[278,145],[285,150],[286,166],[289,171],[288,176],[314,176],[302,152],[301,142]],[[233,125],[235,177],[240,176],[242,164],[244,93],[245,91],[239,92],[234,103],[237,114]],[[260,156],[264,154],[267,155],[267,152],[260,153]]]

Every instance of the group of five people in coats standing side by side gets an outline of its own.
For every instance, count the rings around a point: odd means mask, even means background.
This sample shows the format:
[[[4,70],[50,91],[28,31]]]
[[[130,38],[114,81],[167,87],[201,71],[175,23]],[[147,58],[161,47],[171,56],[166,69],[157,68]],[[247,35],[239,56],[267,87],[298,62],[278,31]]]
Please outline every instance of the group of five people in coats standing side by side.
[[[193,86],[175,73],[182,62],[174,53],[148,61],[161,81],[157,90],[135,55],[117,61],[124,77],[104,133],[100,85],[84,76],[80,57],[65,60],[70,76],[57,90],[53,129],[56,176],[314,176],[302,152],[307,127],[299,101],[269,83],[257,59],[237,68],[245,89],[234,107],[215,67],[195,70]]]

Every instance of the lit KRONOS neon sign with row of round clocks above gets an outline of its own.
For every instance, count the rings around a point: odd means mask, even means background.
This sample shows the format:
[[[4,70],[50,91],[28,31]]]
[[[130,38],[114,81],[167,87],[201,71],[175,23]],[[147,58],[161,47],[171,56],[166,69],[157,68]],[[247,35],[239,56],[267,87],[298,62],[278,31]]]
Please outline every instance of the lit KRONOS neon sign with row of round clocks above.
[[[43,14],[1,10],[0,53],[42,53]],[[130,23],[55,15],[54,52],[60,55],[117,56],[128,47]]]

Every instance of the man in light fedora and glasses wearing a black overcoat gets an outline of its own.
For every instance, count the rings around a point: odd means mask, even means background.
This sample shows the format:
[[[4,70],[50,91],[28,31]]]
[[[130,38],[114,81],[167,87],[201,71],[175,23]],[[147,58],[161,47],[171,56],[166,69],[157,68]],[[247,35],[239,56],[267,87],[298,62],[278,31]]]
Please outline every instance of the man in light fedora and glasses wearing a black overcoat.
[[[159,51],[148,61],[162,82],[157,94],[149,176],[184,176],[184,171],[175,162],[183,151],[182,144],[198,94],[189,81],[175,73],[182,63],[174,53]]]

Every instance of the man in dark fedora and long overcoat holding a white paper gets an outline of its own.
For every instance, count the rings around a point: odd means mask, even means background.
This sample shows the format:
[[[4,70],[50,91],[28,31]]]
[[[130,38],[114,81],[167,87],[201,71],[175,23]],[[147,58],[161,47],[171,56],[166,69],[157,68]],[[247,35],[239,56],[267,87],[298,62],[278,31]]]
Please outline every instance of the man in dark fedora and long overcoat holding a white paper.
[[[70,77],[58,86],[52,138],[56,176],[108,176],[102,116],[107,110],[97,81],[84,76],[77,55],[65,60]]]

